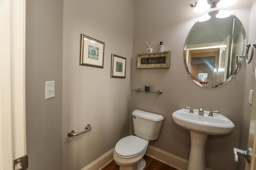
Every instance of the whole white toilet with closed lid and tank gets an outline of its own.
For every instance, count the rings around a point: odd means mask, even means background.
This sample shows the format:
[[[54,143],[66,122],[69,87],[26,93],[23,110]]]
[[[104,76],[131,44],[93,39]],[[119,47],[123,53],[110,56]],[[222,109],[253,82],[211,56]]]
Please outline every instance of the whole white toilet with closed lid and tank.
[[[113,158],[120,170],[143,170],[143,159],[148,141],[159,136],[164,117],[155,113],[136,109],[132,112],[134,135],[120,139],[115,146]]]

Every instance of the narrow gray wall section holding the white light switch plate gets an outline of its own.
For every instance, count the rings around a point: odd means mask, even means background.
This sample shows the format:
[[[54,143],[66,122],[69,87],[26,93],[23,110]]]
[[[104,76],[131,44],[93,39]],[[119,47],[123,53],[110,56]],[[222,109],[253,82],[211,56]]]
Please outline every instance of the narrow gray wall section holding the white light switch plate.
[[[62,169],[62,0],[26,0],[26,141],[29,170]],[[45,81],[55,97],[44,100]]]

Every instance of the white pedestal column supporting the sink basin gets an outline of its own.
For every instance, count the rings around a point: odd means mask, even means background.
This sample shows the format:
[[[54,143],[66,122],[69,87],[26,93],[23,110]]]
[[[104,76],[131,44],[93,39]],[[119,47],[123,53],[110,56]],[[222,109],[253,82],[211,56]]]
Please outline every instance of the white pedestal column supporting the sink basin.
[[[190,154],[187,170],[206,170],[205,150],[208,135],[190,131]]]

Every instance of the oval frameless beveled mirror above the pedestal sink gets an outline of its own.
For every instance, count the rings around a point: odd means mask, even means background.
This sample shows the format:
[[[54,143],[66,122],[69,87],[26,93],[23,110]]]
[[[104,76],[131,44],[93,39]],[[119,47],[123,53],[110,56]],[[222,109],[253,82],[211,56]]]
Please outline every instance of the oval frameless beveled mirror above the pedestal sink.
[[[244,61],[246,33],[241,21],[226,11],[212,11],[191,28],[184,46],[190,77],[202,87],[226,84]]]

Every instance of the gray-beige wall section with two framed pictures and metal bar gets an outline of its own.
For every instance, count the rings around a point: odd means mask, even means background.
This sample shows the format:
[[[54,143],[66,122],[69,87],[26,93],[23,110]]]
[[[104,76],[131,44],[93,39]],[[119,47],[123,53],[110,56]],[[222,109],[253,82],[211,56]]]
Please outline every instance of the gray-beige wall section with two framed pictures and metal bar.
[[[79,170],[129,133],[134,0],[64,0],[62,169]],[[80,66],[80,34],[105,43],[104,68]],[[126,78],[110,78],[111,54]],[[70,129],[92,129],[67,137]]]

